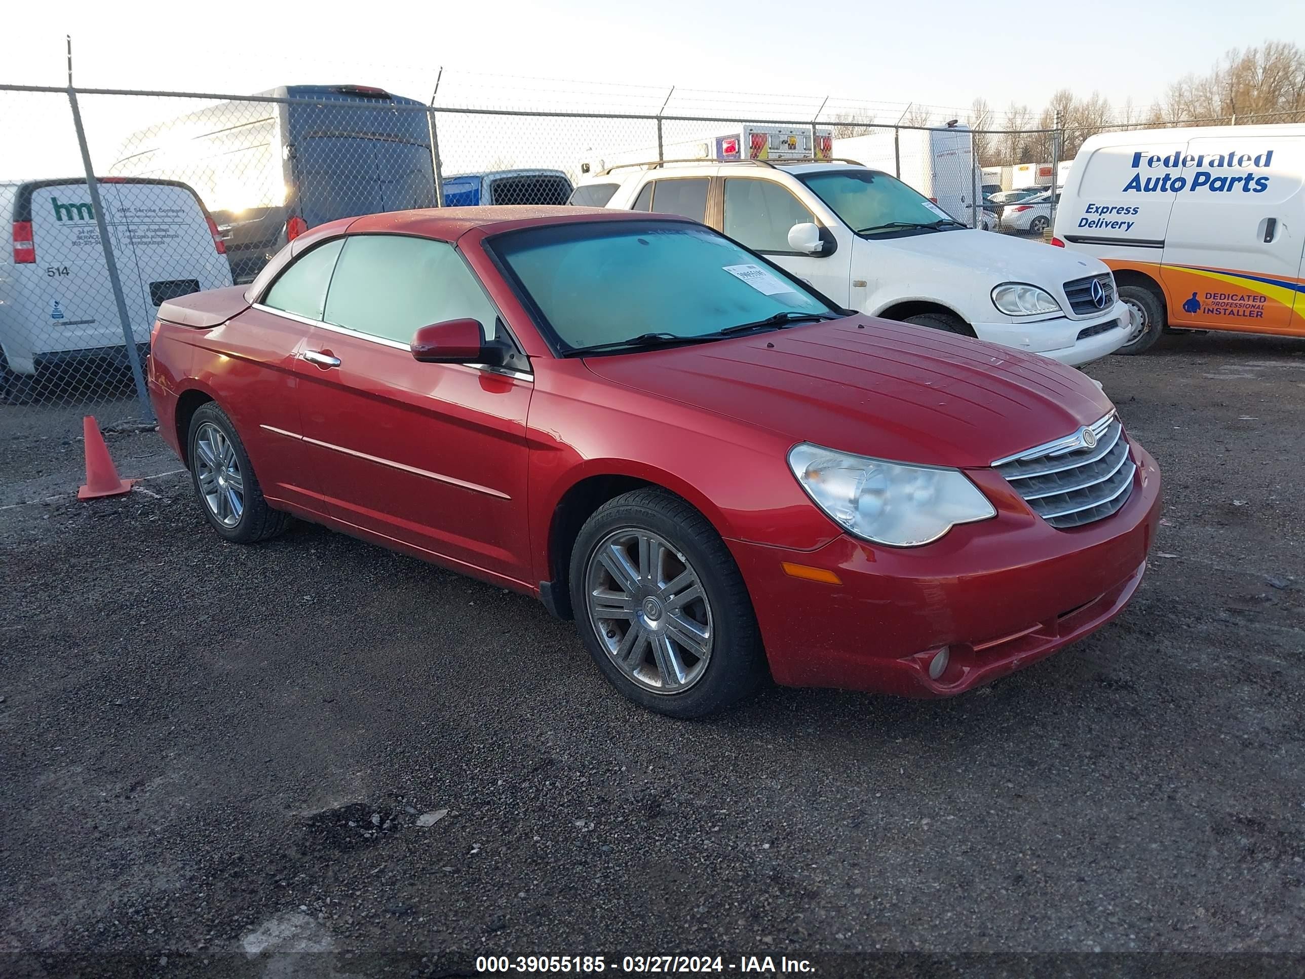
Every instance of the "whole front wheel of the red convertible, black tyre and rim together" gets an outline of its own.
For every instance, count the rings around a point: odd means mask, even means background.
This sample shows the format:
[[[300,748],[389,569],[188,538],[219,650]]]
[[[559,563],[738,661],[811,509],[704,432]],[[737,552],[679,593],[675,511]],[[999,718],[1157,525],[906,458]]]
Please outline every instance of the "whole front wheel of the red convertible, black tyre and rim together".
[[[767,675],[739,567],[706,518],[664,489],[634,489],[594,512],[572,550],[570,597],[603,676],[649,710],[705,717]]]

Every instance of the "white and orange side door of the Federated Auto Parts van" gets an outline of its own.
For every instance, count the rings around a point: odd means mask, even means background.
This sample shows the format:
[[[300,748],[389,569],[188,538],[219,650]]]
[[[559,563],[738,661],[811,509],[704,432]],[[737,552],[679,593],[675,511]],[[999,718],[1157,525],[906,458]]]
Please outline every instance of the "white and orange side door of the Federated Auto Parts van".
[[[1305,333],[1305,137],[1229,129],[1189,140],[1181,163],[1161,269],[1171,322]]]

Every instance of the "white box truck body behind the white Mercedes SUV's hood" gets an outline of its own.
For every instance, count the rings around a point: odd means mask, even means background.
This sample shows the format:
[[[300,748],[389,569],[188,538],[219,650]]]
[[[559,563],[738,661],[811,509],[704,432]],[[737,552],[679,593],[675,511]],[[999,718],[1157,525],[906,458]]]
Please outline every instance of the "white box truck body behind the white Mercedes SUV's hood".
[[[880,129],[834,140],[834,157],[893,174],[970,227],[983,218],[983,176],[968,127]],[[977,201],[979,206],[971,206]]]

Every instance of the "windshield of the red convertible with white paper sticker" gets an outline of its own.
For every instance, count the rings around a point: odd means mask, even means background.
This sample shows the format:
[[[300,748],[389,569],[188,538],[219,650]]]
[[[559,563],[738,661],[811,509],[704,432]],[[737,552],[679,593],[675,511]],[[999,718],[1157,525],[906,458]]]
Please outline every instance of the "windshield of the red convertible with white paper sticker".
[[[705,342],[842,315],[699,225],[551,225],[508,232],[491,247],[564,354]]]

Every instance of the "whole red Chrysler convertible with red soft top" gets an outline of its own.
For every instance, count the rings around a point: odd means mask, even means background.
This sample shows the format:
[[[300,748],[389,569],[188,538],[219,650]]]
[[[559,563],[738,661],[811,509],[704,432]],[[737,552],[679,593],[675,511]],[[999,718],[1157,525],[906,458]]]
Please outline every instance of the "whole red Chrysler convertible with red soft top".
[[[1083,375],[839,309],[668,215],[324,225],[166,303],[150,392],[223,538],[292,514],[536,595],[677,717],[767,672],[1009,674],[1124,608],[1159,513]]]

